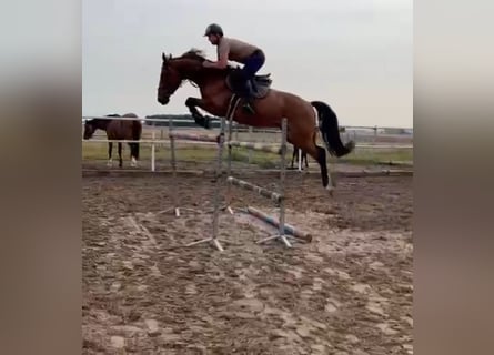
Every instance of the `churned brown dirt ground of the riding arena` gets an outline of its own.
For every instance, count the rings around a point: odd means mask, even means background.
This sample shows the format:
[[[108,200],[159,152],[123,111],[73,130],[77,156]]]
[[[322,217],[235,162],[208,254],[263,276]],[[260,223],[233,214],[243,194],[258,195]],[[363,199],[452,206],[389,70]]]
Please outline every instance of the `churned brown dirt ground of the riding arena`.
[[[330,197],[290,174],[286,222],[312,242],[258,244],[275,230],[223,212],[220,253],[184,246],[211,236],[211,174],[83,178],[83,354],[412,354],[412,180],[340,178]],[[163,212],[174,189],[195,211]]]

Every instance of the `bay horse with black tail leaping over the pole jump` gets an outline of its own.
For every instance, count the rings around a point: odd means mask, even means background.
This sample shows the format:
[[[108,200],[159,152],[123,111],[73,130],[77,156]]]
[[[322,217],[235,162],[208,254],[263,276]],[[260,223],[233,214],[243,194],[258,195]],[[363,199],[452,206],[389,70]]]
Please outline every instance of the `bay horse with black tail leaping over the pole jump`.
[[[204,68],[203,62],[206,59],[198,50],[190,50],[178,58],[167,57],[163,53],[162,60],[158,102],[167,104],[181,83],[190,80],[199,85],[201,99],[188,98],[185,105],[195,122],[204,128],[209,128],[209,121],[198,111],[198,108],[223,118],[229,116],[228,113],[232,108],[234,121],[252,126],[281,128],[282,119],[286,118],[288,142],[299,146],[317,161],[321,166],[322,184],[325,189],[332,190],[334,181],[332,180],[330,186],[326,152],[315,143],[317,125],[329,152],[333,155],[349,154],[354,143],[353,141],[342,143],[336,114],[326,103],[309,102],[293,93],[271,89],[269,75],[256,75],[252,82],[255,100],[252,100],[251,104],[255,113],[249,114],[236,110],[238,102],[232,100],[232,94],[238,92],[235,78],[240,69]]]

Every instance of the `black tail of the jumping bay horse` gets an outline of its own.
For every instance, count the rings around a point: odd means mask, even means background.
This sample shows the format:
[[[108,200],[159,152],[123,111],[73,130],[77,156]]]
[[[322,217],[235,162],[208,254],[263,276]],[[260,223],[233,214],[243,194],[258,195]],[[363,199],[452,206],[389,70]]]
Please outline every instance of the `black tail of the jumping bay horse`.
[[[336,114],[330,105],[321,101],[312,101],[311,104],[317,111],[319,129],[330,154],[340,158],[352,152],[355,143],[350,141],[343,144],[340,138]]]

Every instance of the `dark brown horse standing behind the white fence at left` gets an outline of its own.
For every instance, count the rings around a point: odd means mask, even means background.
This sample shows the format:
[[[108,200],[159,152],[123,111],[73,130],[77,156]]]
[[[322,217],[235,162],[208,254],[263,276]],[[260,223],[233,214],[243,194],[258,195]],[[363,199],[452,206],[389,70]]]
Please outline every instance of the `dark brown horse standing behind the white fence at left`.
[[[108,114],[107,118],[120,118],[120,114]],[[138,118],[134,113],[125,113],[122,118]],[[139,141],[142,134],[142,123],[140,120],[107,120],[92,119],[84,124],[84,140],[89,140],[97,130],[107,132],[109,140],[129,140]],[[119,149],[119,166],[122,168],[122,143],[118,143]],[[138,165],[139,160],[139,143],[128,143],[130,146],[131,166]],[[108,142],[108,165],[111,166],[111,153],[113,150],[113,142]]]

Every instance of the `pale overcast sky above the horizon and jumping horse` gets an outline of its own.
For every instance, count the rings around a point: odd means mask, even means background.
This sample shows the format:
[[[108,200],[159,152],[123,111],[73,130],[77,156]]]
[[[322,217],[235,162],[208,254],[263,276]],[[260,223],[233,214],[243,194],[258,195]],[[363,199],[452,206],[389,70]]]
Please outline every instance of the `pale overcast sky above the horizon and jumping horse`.
[[[84,0],[82,114],[188,113],[184,83],[157,101],[161,54],[191,48],[215,60],[203,37],[263,49],[272,87],[330,104],[342,125],[413,126],[412,0]],[[232,62],[232,64],[235,64]]]

